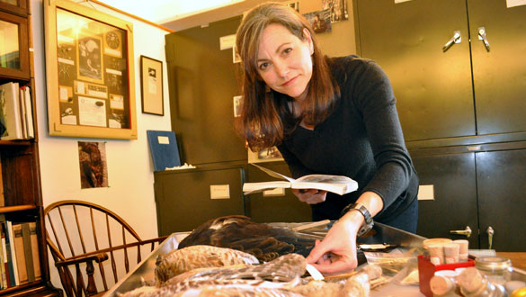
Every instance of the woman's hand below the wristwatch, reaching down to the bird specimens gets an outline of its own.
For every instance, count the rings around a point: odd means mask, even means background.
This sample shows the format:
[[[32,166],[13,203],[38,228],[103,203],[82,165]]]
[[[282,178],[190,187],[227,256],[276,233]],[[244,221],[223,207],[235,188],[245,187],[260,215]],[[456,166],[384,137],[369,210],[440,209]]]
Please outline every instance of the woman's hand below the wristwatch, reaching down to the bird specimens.
[[[339,220],[329,229],[325,238],[307,257],[308,264],[324,275],[348,273],[358,266],[356,258],[356,234],[360,225],[349,220]]]

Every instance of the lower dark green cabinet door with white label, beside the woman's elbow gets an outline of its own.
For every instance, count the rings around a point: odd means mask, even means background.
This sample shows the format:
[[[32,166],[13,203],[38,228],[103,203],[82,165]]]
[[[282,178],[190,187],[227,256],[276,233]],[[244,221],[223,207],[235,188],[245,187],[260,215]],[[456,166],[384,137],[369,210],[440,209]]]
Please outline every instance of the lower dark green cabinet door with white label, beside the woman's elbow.
[[[468,239],[470,247],[478,248],[475,154],[436,150],[412,153],[412,158],[421,186],[433,191],[433,200],[418,202],[416,233],[425,238]],[[472,231],[468,238],[450,233],[467,227]]]

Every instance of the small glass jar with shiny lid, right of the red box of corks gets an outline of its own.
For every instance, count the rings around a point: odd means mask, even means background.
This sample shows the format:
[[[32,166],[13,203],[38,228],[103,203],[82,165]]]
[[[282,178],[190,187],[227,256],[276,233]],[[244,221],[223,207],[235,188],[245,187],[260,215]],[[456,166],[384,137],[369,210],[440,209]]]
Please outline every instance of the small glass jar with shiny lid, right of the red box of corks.
[[[494,284],[506,284],[512,278],[512,261],[507,257],[477,257],[475,267]]]

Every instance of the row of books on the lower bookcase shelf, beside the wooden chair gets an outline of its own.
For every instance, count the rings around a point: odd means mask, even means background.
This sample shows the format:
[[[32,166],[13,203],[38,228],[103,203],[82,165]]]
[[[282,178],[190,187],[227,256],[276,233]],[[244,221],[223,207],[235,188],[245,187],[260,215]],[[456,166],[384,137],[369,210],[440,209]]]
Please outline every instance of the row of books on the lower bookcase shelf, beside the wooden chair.
[[[0,221],[0,288],[28,284],[41,279],[36,222]]]

